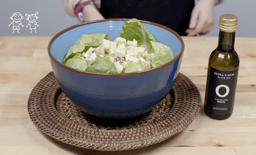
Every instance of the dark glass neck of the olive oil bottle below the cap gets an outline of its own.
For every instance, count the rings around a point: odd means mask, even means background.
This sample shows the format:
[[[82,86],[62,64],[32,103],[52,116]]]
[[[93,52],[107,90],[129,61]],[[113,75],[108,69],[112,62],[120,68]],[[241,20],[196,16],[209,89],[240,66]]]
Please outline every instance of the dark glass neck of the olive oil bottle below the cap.
[[[231,52],[234,50],[236,32],[223,32],[219,33],[218,51]]]

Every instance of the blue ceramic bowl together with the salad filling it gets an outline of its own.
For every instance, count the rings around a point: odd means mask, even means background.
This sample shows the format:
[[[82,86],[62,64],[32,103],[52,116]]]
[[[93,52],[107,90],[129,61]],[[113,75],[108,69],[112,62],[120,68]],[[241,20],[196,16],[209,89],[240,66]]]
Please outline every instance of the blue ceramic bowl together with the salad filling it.
[[[137,19],[80,23],[56,34],[48,46],[67,100],[87,114],[116,120],[145,114],[166,97],[183,51],[175,31]]]

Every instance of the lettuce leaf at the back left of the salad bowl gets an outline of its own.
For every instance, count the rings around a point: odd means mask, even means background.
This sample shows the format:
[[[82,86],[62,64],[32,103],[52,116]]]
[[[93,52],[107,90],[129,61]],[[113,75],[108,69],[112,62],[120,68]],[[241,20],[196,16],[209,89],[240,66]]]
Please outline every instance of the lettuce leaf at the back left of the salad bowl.
[[[73,45],[67,52],[67,55],[65,56],[63,63],[66,63],[67,60],[71,59],[76,55],[77,52],[82,54],[83,52],[86,52],[91,47],[97,48],[101,45],[102,40],[107,39],[108,40],[108,34],[102,33],[94,33],[94,34],[83,34],[80,39],[76,42],[75,45]]]

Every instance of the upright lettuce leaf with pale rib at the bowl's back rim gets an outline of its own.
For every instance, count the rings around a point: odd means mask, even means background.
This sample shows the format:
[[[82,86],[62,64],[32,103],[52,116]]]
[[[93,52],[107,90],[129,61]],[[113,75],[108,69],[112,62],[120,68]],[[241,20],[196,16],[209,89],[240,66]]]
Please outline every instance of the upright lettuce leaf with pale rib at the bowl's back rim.
[[[133,18],[125,21],[122,30],[123,32],[121,32],[120,37],[131,41],[135,39],[138,41],[138,46],[144,45],[145,50],[149,53],[151,52],[152,46],[150,42],[155,42],[156,40],[139,20]]]

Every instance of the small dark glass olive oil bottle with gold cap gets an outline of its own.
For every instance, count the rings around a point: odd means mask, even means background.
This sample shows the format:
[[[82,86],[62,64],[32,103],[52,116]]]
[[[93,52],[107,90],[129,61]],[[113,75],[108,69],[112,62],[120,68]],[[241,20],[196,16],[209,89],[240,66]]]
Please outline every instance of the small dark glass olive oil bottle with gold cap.
[[[233,113],[239,70],[234,49],[237,21],[232,14],[220,16],[218,47],[209,57],[204,113],[216,120],[227,119]]]

